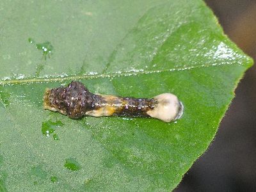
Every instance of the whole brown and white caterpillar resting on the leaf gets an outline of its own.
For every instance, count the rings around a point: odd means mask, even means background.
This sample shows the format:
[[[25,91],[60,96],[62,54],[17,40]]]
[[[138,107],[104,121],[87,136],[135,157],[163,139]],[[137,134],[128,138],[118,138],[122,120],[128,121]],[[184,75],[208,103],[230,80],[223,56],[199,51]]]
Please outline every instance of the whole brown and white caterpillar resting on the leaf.
[[[182,116],[183,104],[172,93],[151,99],[93,94],[83,83],[72,81],[67,87],[46,88],[44,109],[58,111],[70,118],[82,116],[152,117],[164,122]]]

